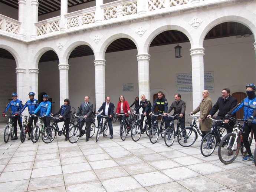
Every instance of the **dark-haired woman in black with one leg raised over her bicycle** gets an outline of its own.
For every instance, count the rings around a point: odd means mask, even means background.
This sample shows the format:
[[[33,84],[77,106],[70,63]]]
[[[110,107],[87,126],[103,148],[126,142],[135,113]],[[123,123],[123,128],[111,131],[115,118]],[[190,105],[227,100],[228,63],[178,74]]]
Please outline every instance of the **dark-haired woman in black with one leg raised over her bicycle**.
[[[55,115],[60,114],[59,119],[54,119],[55,123],[59,123],[59,122],[64,121],[64,123],[65,123],[65,135],[66,135],[65,141],[68,140],[69,122],[70,122],[70,117],[71,117],[71,114],[70,114],[71,106],[69,104],[70,104],[69,99],[64,99],[64,105],[62,105],[60,107],[60,110],[56,113],[51,113],[51,116],[55,116]]]

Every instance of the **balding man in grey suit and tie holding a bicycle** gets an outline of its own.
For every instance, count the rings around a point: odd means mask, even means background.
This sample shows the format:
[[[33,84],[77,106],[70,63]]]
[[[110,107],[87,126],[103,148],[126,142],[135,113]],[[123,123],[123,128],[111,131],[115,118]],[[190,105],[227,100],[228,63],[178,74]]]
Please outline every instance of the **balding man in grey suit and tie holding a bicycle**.
[[[81,113],[81,115],[84,117],[83,119],[80,119],[80,125],[81,128],[83,128],[84,123],[86,124],[86,139],[85,141],[88,141],[90,138],[91,133],[91,122],[92,122],[92,110],[93,110],[93,104],[89,102],[90,97],[85,96],[85,102],[82,102],[78,112]]]

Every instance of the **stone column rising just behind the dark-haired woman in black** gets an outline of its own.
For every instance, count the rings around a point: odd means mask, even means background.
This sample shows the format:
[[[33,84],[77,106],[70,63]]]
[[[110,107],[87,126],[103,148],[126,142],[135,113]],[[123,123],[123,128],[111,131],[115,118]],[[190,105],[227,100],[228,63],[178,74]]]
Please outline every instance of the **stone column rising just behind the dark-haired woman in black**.
[[[69,64],[60,63],[60,106],[63,105],[64,99],[69,97],[68,93],[68,70]]]

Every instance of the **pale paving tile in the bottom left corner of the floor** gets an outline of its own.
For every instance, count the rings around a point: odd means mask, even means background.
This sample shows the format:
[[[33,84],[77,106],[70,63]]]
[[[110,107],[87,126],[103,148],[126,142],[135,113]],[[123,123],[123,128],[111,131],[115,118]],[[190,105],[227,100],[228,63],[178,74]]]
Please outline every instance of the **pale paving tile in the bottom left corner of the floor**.
[[[4,192],[24,192],[27,191],[28,186],[29,179],[0,183],[0,189]]]

